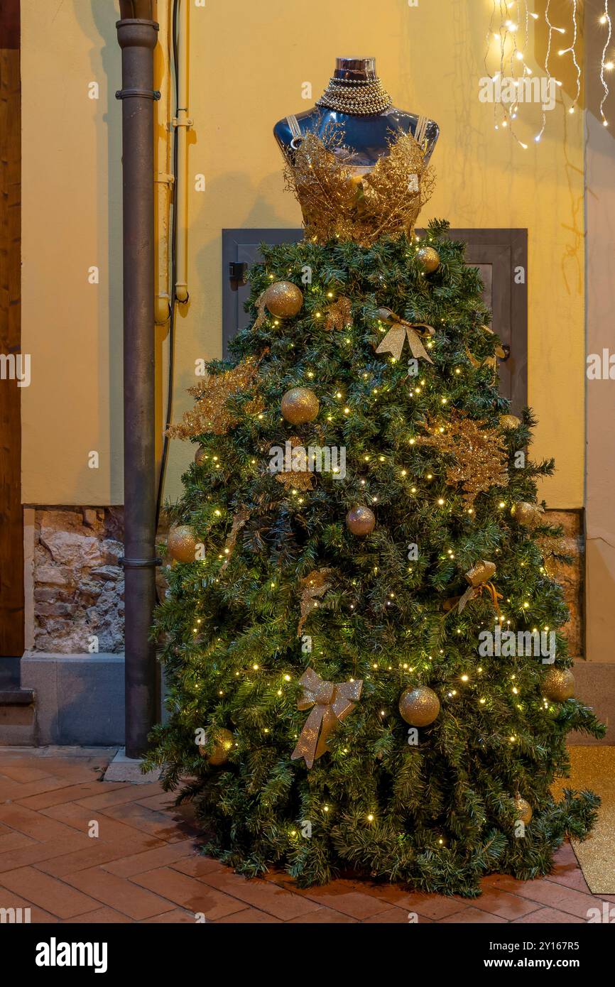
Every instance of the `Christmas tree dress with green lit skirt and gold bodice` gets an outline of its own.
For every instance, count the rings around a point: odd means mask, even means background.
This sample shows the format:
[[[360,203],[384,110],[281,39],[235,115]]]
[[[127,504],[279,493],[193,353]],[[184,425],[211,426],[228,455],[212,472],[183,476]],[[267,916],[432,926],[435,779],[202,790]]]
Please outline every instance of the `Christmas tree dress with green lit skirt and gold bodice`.
[[[392,132],[358,174],[335,127],[293,152],[305,237],[263,248],[251,325],[171,430],[198,445],[170,511],[195,550],[157,612],[147,763],[241,873],[464,895],[548,873],[598,803],[550,794],[566,735],[601,733],[546,678],[572,664],[536,504],[553,463],[499,396],[463,244],[415,235],[425,144]]]

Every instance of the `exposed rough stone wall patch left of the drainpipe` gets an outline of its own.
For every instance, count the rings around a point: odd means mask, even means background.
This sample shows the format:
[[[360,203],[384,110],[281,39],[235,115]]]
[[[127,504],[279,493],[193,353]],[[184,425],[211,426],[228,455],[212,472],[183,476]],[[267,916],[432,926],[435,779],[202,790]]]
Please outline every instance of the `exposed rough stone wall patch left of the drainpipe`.
[[[37,508],[35,650],[123,650],[122,538],[122,507]]]

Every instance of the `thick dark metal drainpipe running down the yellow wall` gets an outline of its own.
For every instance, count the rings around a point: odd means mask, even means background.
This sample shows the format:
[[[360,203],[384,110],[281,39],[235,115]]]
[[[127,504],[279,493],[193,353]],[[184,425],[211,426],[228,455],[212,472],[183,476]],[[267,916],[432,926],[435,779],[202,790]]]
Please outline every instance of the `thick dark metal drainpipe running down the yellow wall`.
[[[158,720],[156,654],[149,641],[156,602],[154,418],[154,104],[158,25],[125,17],[120,2],[123,193],[123,468],[125,730],[127,757],[141,757]],[[137,13],[151,15],[151,4]]]

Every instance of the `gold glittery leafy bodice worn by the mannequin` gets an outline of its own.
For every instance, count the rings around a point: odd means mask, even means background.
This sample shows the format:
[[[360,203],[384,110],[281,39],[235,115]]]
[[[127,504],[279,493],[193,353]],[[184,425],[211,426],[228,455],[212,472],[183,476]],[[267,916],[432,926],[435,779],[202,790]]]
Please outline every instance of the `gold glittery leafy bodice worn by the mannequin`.
[[[410,236],[433,189],[423,154],[412,134],[400,131],[371,170],[353,168],[335,129],[323,137],[306,134],[284,168],[286,187],[303,212],[306,239],[369,247],[381,237]]]

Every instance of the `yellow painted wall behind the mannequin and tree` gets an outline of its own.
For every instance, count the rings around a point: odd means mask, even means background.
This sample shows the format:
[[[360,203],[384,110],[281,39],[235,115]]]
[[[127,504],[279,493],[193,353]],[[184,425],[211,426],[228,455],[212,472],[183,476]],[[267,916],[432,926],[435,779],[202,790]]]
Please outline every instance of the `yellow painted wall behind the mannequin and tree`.
[[[496,132],[478,99],[489,0],[191,2],[191,302],[178,319],[176,418],[194,360],[221,352],[220,231],[298,226],[272,124],[317,99],[336,55],[375,55],[394,102],[438,121],[437,188],[422,221],[529,230],[529,400],[534,454],[554,455],[553,507],[583,490],[583,157],[581,115],[549,115],[526,151]],[[24,500],[117,503],[120,478],[119,50],[114,4],[23,0]],[[539,70],[537,63],[535,71]],[[100,101],[87,98],[97,80]],[[193,190],[202,173],[206,190]],[[101,266],[98,287],[87,268]],[[100,449],[101,467],[87,467]],[[167,494],[192,454],[174,442]]]

